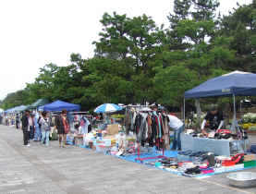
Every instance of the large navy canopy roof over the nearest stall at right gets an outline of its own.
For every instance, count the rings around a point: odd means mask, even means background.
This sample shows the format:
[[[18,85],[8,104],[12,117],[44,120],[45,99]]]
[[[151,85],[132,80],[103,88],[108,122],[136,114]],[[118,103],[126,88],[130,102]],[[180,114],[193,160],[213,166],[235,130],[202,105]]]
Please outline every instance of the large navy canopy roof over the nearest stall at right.
[[[201,85],[186,91],[184,98],[206,98],[214,96],[256,95],[256,74],[234,71],[232,73],[209,79]]]

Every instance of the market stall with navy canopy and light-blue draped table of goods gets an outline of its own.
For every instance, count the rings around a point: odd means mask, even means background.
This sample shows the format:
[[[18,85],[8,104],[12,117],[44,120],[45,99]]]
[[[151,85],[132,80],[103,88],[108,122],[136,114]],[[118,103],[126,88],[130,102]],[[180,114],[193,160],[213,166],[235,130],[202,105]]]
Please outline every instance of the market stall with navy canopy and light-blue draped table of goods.
[[[246,131],[238,127],[235,107],[236,96],[256,94],[255,82],[256,74],[234,71],[214,79],[209,79],[194,89],[186,91],[184,93],[184,107],[186,99],[190,98],[233,97],[234,118],[230,130],[219,130],[217,131],[218,133],[213,133],[211,137],[210,133],[204,136],[195,131],[183,134],[181,136],[182,152],[178,153],[179,156],[177,158],[183,157],[189,163],[194,163],[200,160],[195,160],[193,156],[196,155],[199,158],[203,156],[201,152],[208,152],[205,157],[201,158],[201,161],[206,161],[207,169],[210,173],[256,166],[255,153],[246,152],[248,137]],[[184,117],[186,117],[185,110]],[[245,151],[241,148],[240,143],[245,144]],[[196,171],[196,169],[193,170]],[[192,174],[194,176],[197,173],[193,172]]]

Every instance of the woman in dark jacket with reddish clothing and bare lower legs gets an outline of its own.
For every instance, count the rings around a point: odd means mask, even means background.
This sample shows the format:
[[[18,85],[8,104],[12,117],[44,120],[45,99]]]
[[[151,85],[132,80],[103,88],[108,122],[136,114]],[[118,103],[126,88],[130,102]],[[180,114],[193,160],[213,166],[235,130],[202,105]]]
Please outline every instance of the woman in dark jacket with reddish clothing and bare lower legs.
[[[70,130],[68,127],[67,110],[66,109],[63,109],[61,111],[61,115],[57,115],[55,117],[55,129],[57,129],[58,135],[59,135],[58,146],[59,147],[61,146],[61,141],[63,138],[63,147],[66,148],[67,132],[69,131],[69,133],[70,133]]]

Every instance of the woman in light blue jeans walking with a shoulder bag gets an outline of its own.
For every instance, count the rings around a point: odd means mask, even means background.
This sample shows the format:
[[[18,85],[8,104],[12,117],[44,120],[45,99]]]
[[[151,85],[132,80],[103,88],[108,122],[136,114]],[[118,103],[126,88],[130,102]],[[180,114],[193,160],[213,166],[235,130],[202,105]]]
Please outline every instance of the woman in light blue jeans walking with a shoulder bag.
[[[43,145],[43,141],[45,139],[46,146],[49,146],[49,133],[50,133],[51,127],[50,127],[50,119],[48,118],[48,113],[46,111],[42,112],[42,116],[40,117],[38,123],[41,125],[41,132],[42,132],[41,144]]]

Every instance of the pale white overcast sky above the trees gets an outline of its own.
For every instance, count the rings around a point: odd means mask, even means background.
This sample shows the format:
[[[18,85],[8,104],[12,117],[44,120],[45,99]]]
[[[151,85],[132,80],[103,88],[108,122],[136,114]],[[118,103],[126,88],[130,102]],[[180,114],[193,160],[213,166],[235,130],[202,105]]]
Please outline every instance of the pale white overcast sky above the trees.
[[[227,15],[237,2],[220,0],[218,11]],[[70,65],[70,55],[93,56],[93,41],[99,40],[100,19],[104,12],[127,14],[128,18],[146,14],[160,27],[174,0],[0,0],[0,100],[8,92],[23,90],[39,76],[39,68],[54,63]]]

